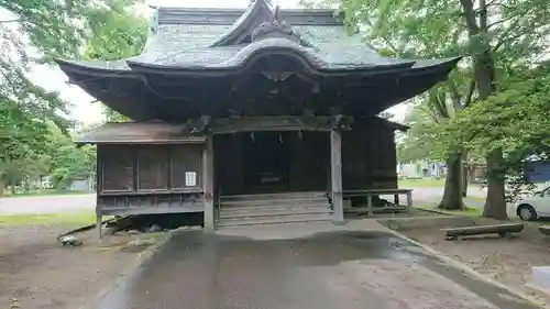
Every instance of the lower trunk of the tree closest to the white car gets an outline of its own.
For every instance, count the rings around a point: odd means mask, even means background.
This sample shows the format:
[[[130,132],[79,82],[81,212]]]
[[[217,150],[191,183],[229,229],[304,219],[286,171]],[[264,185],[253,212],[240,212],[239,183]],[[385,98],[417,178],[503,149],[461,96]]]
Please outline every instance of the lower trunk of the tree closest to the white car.
[[[487,199],[483,217],[506,220],[505,181],[502,170],[503,150],[497,148],[487,156]]]

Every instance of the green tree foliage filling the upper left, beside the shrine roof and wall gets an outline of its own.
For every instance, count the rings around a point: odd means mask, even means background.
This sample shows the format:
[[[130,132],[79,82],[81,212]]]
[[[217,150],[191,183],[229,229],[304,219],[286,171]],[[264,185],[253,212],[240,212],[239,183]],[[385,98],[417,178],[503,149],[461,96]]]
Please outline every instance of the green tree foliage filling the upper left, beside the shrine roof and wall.
[[[95,172],[95,148],[76,148],[67,103],[29,79],[53,57],[112,59],[136,54],[146,32],[136,0],[0,0],[0,195],[51,175],[56,187]]]

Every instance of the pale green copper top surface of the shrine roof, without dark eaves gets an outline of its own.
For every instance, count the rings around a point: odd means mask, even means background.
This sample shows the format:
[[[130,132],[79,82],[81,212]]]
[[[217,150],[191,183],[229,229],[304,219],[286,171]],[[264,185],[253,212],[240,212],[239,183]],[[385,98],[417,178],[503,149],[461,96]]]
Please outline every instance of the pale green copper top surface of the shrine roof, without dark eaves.
[[[238,13],[241,16],[230,24]],[[295,23],[287,22],[287,16]],[[157,19],[158,24],[141,55],[107,63],[61,60],[59,64],[113,73],[141,66],[229,69],[243,66],[257,53],[275,48],[294,51],[326,70],[415,64],[381,56],[361,35],[350,35],[332,10],[276,11],[266,0],[255,0],[245,11],[161,8]],[[292,34],[280,33],[285,27]],[[252,40],[254,32],[262,35]]]

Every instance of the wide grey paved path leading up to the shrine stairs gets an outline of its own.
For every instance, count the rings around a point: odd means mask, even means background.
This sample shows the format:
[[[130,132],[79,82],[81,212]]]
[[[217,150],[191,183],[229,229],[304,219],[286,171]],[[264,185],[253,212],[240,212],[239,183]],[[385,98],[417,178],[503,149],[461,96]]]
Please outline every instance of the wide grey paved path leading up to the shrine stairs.
[[[535,308],[389,233],[305,225],[176,234],[96,309]]]

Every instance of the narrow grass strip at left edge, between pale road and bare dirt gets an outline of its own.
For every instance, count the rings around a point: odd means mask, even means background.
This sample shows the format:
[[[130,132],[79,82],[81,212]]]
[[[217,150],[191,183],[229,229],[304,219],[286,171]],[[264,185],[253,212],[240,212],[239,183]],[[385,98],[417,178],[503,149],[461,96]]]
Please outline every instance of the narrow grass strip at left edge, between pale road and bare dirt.
[[[96,220],[94,211],[69,211],[47,214],[4,214],[0,225],[46,225],[46,224],[91,224]]]

